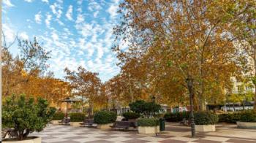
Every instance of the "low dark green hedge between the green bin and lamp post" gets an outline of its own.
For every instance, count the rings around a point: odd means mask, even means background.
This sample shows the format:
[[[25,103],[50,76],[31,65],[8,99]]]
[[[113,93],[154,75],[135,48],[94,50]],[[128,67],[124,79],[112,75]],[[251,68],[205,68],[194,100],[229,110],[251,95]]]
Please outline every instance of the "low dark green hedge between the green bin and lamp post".
[[[184,118],[189,119],[189,112],[166,113],[164,118],[167,122],[179,122]]]

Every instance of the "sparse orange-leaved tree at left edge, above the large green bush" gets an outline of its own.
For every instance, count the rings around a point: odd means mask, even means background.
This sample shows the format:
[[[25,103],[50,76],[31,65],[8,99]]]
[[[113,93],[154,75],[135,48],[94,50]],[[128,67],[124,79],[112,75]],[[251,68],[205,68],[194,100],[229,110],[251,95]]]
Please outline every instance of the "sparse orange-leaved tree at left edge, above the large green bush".
[[[4,37],[4,34],[3,34]],[[17,40],[19,54],[13,56],[9,48],[14,45]],[[10,45],[3,42],[2,45],[2,95],[10,96],[12,93],[18,93],[19,86],[26,84],[32,77],[42,74],[47,68],[46,61],[49,52],[39,45],[37,39],[30,42],[21,40],[18,36]]]

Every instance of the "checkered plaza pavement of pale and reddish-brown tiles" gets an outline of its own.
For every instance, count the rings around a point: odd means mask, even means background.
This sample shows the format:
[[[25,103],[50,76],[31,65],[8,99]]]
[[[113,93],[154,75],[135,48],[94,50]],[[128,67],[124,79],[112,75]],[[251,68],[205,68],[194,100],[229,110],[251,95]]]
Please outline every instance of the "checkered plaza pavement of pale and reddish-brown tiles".
[[[41,136],[42,142],[162,142],[162,143],[256,143],[256,130],[238,129],[236,125],[217,125],[216,132],[206,134],[197,133],[196,138],[190,137],[190,128],[178,123],[167,123],[166,131],[158,136],[141,135],[138,131],[113,131],[100,130],[97,128],[71,127],[69,125],[48,125],[44,131],[31,134],[31,136]]]

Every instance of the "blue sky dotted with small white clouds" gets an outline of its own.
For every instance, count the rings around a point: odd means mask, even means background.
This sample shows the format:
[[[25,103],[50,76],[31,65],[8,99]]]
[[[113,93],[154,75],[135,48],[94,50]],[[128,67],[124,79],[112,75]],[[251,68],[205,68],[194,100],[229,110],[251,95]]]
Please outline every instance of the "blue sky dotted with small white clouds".
[[[118,0],[3,0],[2,29],[7,42],[15,34],[37,36],[50,50],[49,70],[64,77],[64,68],[83,66],[99,72],[105,82],[118,74],[111,51],[113,26],[118,23]],[[123,47],[126,47],[125,43]],[[11,51],[15,54],[16,47]]]

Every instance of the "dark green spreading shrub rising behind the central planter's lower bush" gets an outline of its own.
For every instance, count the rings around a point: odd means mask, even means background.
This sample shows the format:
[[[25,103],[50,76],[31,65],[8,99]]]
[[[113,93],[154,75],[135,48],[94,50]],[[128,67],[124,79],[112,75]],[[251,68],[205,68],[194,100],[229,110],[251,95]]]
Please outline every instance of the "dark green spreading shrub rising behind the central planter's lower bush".
[[[161,110],[161,106],[154,102],[146,102],[138,100],[129,104],[130,109],[133,112],[149,116],[151,114],[157,113]]]

